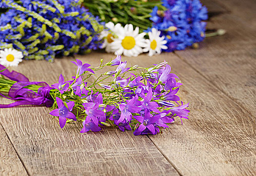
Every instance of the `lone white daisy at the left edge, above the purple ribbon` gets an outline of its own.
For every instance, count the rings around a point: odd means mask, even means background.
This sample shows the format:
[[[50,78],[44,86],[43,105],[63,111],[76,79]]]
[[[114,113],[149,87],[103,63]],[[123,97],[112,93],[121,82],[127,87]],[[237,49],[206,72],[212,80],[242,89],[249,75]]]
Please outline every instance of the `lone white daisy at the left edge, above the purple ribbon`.
[[[22,61],[23,54],[16,49],[5,49],[0,50],[0,64],[5,66],[18,66],[18,64]]]

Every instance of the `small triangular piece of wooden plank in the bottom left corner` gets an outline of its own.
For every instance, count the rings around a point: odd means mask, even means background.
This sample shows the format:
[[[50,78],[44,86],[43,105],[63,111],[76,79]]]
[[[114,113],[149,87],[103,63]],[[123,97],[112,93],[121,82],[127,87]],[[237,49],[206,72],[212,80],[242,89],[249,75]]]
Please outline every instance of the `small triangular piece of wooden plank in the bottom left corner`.
[[[1,124],[0,141],[0,175],[28,175]]]

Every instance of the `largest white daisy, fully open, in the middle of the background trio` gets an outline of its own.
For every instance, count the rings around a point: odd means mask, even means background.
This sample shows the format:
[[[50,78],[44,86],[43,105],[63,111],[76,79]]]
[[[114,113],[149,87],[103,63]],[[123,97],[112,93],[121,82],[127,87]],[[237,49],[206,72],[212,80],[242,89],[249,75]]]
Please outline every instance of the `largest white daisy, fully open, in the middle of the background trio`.
[[[132,24],[124,26],[124,33],[120,33],[112,44],[111,48],[115,50],[115,55],[138,56],[142,53],[142,47],[145,47],[145,32],[139,34],[139,27]]]

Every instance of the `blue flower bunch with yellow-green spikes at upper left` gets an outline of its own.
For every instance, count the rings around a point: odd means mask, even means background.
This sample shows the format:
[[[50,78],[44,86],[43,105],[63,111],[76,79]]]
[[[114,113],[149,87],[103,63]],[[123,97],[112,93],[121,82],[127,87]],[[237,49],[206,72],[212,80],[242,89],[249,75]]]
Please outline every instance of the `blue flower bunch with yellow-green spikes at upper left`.
[[[101,47],[104,23],[81,7],[82,1],[3,0],[0,49],[22,51],[25,59],[52,61],[56,55],[87,53]]]

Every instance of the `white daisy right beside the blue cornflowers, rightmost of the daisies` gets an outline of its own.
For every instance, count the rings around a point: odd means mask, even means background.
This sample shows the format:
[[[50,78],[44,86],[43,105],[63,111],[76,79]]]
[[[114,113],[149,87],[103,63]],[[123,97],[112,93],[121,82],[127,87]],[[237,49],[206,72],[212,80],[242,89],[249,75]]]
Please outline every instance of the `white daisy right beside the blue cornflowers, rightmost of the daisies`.
[[[152,32],[149,32],[149,39],[146,40],[146,48],[143,49],[143,52],[149,51],[149,56],[153,56],[155,54],[160,54],[162,49],[167,49],[168,47],[165,45],[167,43],[164,40],[164,36],[160,37],[160,31],[155,28],[152,29]]]

